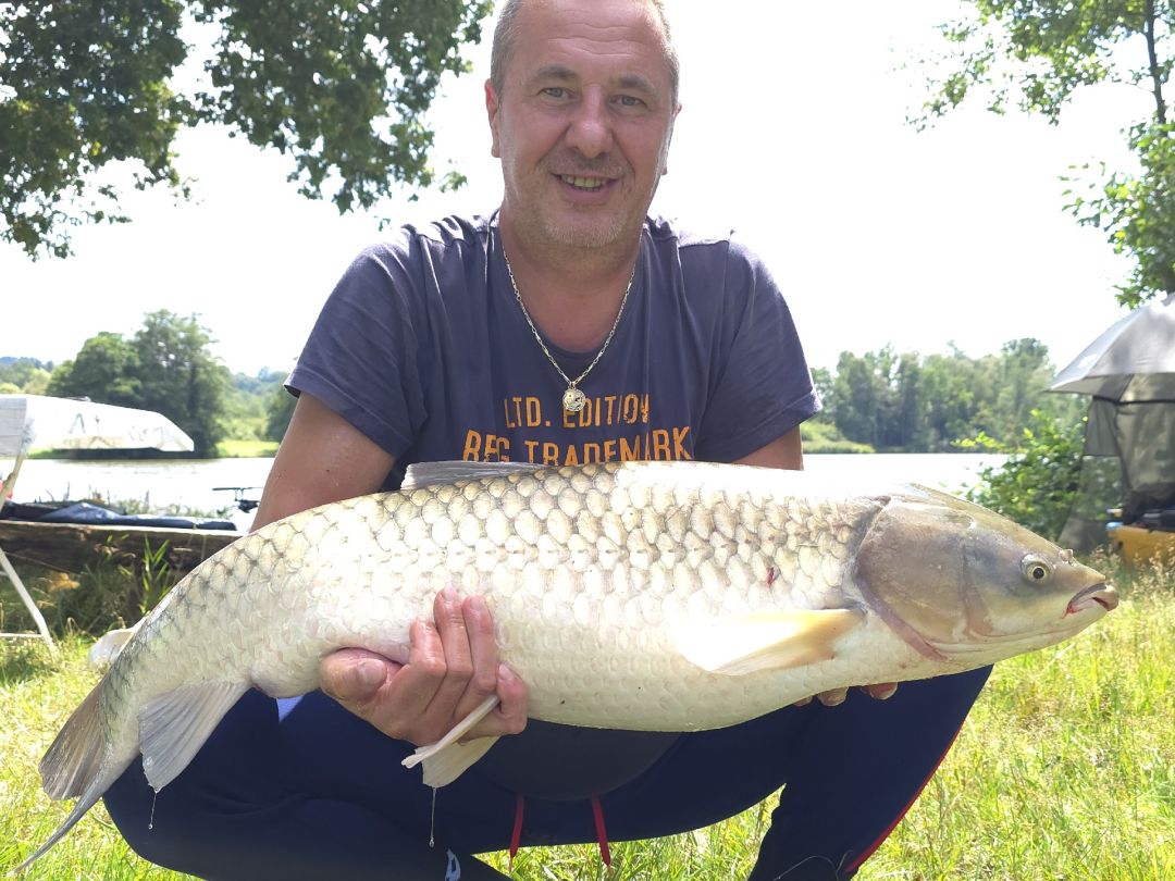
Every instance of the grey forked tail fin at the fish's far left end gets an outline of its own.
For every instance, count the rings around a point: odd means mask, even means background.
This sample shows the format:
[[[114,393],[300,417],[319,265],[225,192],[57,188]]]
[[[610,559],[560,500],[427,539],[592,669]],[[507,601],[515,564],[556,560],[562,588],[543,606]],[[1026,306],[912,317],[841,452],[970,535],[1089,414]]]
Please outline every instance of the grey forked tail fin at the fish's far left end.
[[[94,688],[69,717],[53,745],[41,759],[41,784],[53,799],[79,798],[74,809],[49,840],[33,852],[32,856],[12,870],[16,874],[39,860],[61,836],[85,816],[119,775],[129,760],[110,762],[106,754],[107,744],[102,729],[99,686]],[[119,765],[121,764],[121,767]]]

